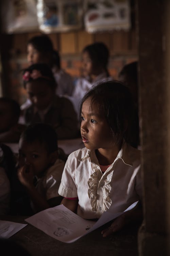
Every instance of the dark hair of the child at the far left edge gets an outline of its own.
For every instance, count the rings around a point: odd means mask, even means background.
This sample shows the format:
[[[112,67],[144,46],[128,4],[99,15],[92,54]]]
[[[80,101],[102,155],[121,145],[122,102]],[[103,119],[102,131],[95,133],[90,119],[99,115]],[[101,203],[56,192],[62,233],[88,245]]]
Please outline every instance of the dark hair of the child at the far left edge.
[[[0,102],[7,103],[10,106],[11,116],[13,118],[15,118],[15,120],[17,122],[19,119],[20,113],[21,113],[20,105],[15,100],[13,100],[11,98],[7,98],[7,97],[1,97]]]

